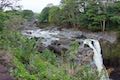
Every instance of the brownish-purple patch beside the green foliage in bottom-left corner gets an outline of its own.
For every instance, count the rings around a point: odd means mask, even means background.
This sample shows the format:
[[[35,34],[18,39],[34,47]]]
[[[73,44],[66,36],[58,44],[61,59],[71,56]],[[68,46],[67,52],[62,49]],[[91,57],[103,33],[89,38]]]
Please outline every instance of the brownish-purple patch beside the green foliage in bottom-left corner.
[[[11,64],[11,56],[6,51],[0,50],[0,80],[14,80],[10,74],[9,69]]]

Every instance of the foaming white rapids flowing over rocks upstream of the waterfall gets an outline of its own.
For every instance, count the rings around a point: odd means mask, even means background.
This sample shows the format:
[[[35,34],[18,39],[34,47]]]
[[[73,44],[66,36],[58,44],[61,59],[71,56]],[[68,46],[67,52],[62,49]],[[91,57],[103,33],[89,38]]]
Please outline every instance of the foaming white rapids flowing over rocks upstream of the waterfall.
[[[33,37],[43,38],[42,43],[45,46],[50,45],[52,41],[59,40],[59,38],[55,37],[56,35],[58,35],[58,33],[59,33],[59,31],[51,32],[49,30],[43,31],[41,29],[22,31],[22,34],[29,38],[33,38]]]

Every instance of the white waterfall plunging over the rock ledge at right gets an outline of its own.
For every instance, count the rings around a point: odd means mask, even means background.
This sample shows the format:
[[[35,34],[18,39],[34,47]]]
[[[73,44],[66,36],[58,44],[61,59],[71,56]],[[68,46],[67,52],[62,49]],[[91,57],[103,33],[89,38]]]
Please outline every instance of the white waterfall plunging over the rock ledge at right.
[[[86,44],[91,49],[93,49],[93,52],[94,52],[93,61],[97,67],[99,74],[101,75],[100,80],[109,80],[107,72],[103,65],[103,58],[101,54],[101,47],[100,47],[99,41],[94,39],[85,39],[83,44],[84,45]]]

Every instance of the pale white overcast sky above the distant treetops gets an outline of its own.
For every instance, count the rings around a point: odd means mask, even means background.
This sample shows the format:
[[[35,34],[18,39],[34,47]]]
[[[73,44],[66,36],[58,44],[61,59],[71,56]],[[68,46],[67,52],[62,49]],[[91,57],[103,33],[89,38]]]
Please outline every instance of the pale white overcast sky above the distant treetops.
[[[20,4],[23,6],[23,9],[30,9],[34,12],[41,12],[41,10],[49,3],[59,5],[60,0],[22,0],[20,2]]]

